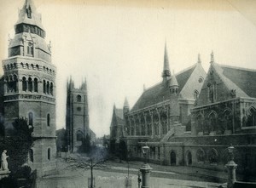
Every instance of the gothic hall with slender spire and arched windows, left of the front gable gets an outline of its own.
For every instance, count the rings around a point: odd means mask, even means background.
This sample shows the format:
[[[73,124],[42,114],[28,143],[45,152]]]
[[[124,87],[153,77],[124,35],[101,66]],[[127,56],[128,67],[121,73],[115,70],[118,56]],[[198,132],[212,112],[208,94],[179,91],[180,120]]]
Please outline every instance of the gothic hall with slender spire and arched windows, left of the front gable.
[[[125,125],[113,127],[112,124],[111,145],[118,140],[122,148],[127,148],[125,150],[129,151],[130,157],[140,157],[139,143],[151,141],[152,159],[160,162],[160,143],[166,142],[174,134],[190,131],[190,109],[195,105],[206,75],[200,56],[193,66],[171,74],[165,46],[162,82],[144,89],[131,111],[129,105],[124,105]],[[117,130],[113,131],[113,128]],[[113,133],[119,135],[113,136]]]

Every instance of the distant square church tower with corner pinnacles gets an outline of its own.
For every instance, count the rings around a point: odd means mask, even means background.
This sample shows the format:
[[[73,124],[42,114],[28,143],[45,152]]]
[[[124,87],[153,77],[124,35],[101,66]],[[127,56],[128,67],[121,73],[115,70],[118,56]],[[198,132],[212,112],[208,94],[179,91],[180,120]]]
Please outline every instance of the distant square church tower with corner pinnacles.
[[[76,152],[82,145],[86,134],[91,135],[89,128],[87,85],[84,80],[79,88],[74,87],[72,78],[67,82],[66,111],[67,145]]]

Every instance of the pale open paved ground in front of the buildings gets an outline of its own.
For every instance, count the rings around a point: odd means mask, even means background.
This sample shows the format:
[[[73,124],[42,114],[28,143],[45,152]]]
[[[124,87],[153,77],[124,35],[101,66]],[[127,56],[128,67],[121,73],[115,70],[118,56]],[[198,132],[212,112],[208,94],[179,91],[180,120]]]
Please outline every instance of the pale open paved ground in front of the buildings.
[[[83,188],[88,187],[90,170],[83,168],[69,168],[69,164],[58,159],[56,162],[58,174],[38,179],[38,188]],[[137,174],[142,162],[130,162],[129,173],[132,188],[138,187]],[[150,178],[150,188],[210,188],[218,187],[221,183],[214,179],[211,170],[189,167],[170,167],[150,164],[153,168]],[[127,163],[107,162],[105,167],[93,171],[96,179],[96,188],[123,188],[127,178]],[[196,173],[197,172],[197,173]],[[216,172],[215,172],[216,174]],[[221,178],[224,172],[218,172]]]

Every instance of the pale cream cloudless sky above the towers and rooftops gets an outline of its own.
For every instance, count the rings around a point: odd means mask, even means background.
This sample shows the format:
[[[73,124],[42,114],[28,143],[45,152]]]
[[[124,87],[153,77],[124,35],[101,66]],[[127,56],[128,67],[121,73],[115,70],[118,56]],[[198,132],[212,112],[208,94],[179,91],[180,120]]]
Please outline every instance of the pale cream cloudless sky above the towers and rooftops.
[[[219,64],[255,69],[252,0],[33,1],[57,67],[57,129],[65,127],[67,78],[78,88],[86,77],[90,128],[96,136],[109,134],[113,105],[122,108],[127,97],[132,107],[143,84],[161,82],[165,42],[175,73],[193,66],[199,53],[207,71],[212,50]],[[0,0],[0,60],[24,2]]]

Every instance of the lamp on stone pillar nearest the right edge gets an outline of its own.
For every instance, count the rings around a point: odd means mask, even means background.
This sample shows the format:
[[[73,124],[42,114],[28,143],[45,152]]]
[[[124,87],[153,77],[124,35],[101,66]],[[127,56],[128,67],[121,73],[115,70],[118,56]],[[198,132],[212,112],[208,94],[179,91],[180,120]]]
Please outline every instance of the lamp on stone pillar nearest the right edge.
[[[236,168],[237,164],[234,162],[234,151],[235,147],[233,145],[230,145],[228,147],[228,151],[230,154],[230,161],[226,164],[226,167],[228,168],[228,188],[232,188],[234,183],[236,182]]]

